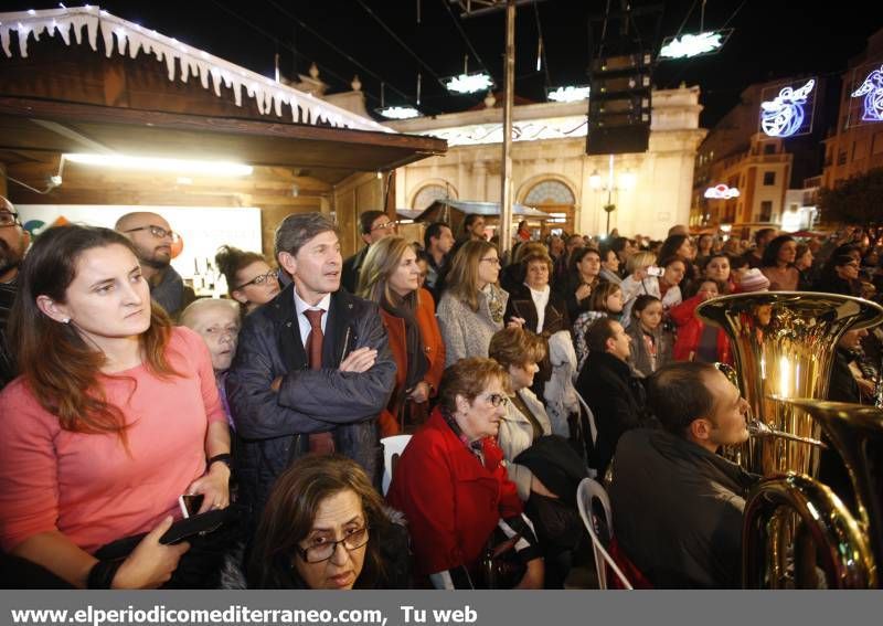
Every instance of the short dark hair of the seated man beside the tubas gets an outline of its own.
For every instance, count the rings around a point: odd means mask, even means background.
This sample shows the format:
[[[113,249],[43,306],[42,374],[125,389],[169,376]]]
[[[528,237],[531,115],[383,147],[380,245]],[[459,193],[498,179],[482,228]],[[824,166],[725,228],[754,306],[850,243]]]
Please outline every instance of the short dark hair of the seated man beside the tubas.
[[[714,395],[706,381],[715,371],[711,363],[679,361],[647,380],[647,405],[663,428],[683,436],[694,420],[712,414]]]

